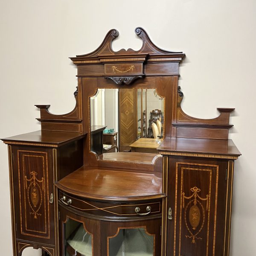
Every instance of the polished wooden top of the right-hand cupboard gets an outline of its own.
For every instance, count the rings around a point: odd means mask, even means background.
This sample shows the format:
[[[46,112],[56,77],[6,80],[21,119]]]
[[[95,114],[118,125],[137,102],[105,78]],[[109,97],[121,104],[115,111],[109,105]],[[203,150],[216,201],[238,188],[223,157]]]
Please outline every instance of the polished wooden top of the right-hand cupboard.
[[[239,157],[241,153],[232,140],[166,138],[157,148],[175,153],[216,154]],[[177,154],[179,155],[179,154]],[[223,157],[225,158],[225,157]]]

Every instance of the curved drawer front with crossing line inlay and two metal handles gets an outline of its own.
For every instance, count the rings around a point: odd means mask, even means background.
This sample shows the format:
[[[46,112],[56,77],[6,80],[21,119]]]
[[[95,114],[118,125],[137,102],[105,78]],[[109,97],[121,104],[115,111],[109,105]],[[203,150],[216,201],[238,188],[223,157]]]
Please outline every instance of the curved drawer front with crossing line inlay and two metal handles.
[[[162,211],[161,200],[151,200],[140,203],[109,203],[86,200],[60,191],[59,201],[61,204],[68,205],[68,207],[74,210],[102,217],[143,217],[157,215]]]

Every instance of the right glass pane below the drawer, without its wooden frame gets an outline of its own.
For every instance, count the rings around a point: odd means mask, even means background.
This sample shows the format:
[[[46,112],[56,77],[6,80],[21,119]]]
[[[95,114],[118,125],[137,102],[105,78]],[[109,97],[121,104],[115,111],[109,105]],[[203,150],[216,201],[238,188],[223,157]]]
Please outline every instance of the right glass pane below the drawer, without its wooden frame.
[[[154,236],[144,228],[120,229],[109,239],[109,256],[153,256]]]

